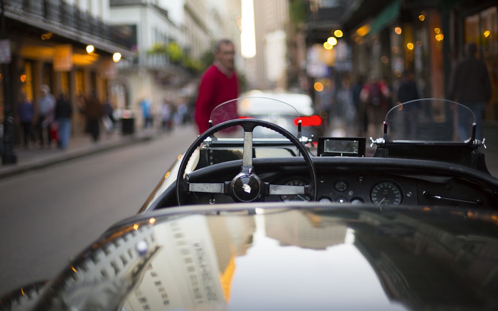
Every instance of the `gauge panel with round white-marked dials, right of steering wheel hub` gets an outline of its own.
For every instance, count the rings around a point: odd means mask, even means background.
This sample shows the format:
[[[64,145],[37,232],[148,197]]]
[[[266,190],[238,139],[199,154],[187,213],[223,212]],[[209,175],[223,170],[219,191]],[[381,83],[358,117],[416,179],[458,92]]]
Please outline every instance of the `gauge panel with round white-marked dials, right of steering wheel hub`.
[[[403,176],[378,174],[344,174],[342,176],[321,175],[318,178],[318,201],[336,203],[373,203],[382,206],[417,204],[417,183]],[[280,180],[285,185],[306,185],[305,176],[293,176]],[[306,195],[280,195],[284,202],[310,200]]]

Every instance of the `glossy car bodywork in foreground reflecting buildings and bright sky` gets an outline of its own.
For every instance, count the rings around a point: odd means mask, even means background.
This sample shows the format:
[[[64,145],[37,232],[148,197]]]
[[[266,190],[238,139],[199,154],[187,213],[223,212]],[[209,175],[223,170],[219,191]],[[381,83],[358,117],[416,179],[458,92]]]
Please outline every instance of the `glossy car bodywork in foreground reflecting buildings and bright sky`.
[[[33,310],[498,307],[497,212],[244,206],[123,221],[48,283]]]

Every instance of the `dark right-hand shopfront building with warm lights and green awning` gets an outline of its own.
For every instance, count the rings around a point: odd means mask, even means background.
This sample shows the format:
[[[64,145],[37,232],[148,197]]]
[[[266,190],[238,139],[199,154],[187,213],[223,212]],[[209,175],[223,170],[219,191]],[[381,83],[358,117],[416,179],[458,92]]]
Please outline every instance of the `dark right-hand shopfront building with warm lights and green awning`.
[[[314,1],[318,3],[319,1]],[[308,33],[315,35],[308,42],[323,43],[334,27],[340,27],[340,41],[351,49],[346,55],[351,69],[334,76],[364,77],[374,74],[384,79],[394,92],[401,75],[410,70],[422,97],[447,98],[453,67],[463,56],[464,45],[475,42],[479,57],[488,67],[493,97],[485,112],[485,133],[498,145],[494,134],[498,123],[498,19],[497,3],[490,0],[378,0],[328,1],[339,4],[337,18],[313,19]],[[316,4],[315,3],[315,4]],[[313,10],[310,10],[313,13]],[[320,15],[320,7],[315,11]],[[331,15],[332,16],[332,15]],[[320,27],[325,25],[325,27]],[[327,28],[329,31],[321,31]],[[316,31],[314,31],[316,30]],[[320,31],[319,31],[320,30]],[[333,65],[332,72],[338,67]],[[340,87],[340,84],[336,85]],[[396,104],[394,97],[392,104]]]

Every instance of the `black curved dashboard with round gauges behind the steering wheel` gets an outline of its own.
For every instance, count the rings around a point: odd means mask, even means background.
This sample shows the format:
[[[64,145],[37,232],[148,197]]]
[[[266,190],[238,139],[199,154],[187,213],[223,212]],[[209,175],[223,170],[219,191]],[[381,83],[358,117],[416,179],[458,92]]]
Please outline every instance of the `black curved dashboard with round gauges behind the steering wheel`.
[[[472,206],[496,209],[496,178],[469,167],[417,159],[313,157],[319,202],[375,205]],[[241,161],[204,167],[189,174],[192,182],[224,182],[239,173]],[[255,158],[263,182],[306,185],[311,176],[300,157]],[[268,195],[262,201],[308,201],[303,194]],[[193,193],[186,204],[228,203],[230,196]]]

